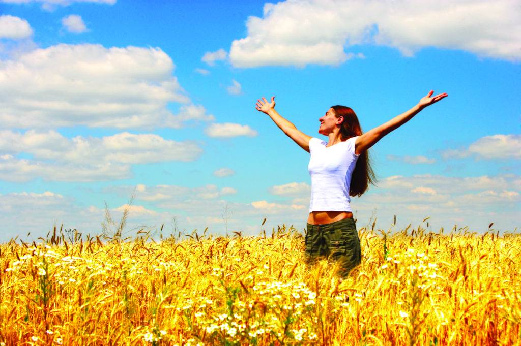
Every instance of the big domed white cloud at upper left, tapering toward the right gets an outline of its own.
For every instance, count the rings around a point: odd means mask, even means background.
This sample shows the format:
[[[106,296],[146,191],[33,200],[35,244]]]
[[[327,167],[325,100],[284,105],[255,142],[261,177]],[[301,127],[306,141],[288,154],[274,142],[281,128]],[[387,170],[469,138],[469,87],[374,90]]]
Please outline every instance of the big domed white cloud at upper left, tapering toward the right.
[[[180,127],[213,120],[172,75],[160,48],[59,44],[0,60],[0,127]],[[177,102],[179,114],[167,105]]]

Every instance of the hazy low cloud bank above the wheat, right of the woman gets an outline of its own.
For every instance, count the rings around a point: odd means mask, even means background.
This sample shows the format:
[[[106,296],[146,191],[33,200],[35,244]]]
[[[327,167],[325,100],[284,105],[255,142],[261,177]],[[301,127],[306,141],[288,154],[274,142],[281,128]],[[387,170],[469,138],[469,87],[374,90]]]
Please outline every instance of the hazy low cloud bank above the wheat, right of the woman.
[[[520,202],[519,175],[423,174],[384,178],[362,197],[352,198],[352,208],[364,222],[376,216],[381,227],[389,227],[393,215],[401,220],[401,226],[430,216],[431,225],[436,227],[446,229],[460,224],[479,232],[486,230],[490,222],[501,230],[521,226],[516,218]]]

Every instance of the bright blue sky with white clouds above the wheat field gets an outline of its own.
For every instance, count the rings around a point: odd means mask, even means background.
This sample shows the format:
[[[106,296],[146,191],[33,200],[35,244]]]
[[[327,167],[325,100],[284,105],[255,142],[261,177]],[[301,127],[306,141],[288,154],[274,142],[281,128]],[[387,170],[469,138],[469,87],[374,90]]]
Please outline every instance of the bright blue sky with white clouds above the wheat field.
[[[134,189],[129,230],[303,229],[309,154],[255,100],[321,137],[332,105],[368,131],[430,89],[449,97],[370,149],[358,226],[512,231],[520,15],[506,0],[0,1],[0,240],[99,232],[105,201],[117,219]]]

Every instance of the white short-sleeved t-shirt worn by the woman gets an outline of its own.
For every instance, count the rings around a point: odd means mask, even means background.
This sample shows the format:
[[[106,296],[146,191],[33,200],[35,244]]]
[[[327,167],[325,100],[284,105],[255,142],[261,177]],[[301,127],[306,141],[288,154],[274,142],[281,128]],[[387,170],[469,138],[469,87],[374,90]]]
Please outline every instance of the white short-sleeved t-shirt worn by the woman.
[[[352,211],[349,205],[349,186],[355,169],[355,140],[351,137],[344,142],[326,147],[319,138],[309,139],[309,164],[311,175],[312,211]]]

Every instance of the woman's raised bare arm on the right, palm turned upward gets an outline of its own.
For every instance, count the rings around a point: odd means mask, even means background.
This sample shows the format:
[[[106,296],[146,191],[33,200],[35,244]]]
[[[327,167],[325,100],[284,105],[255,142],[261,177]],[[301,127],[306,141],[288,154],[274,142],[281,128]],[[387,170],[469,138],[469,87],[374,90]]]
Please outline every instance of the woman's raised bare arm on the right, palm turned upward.
[[[380,126],[375,127],[373,130],[370,130],[364,133],[363,135],[358,136],[355,142],[355,153],[362,153],[370,147],[374,146],[383,136],[387,135],[389,132],[395,129],[398,129],[398,127],[411,120],[422,109],[432,104],[435,104],[435,102],[438,102],[442,98],[448,96],[446,93],[432,96],[433,93],[434,92],[431,90],[426,96],[420,99],[416,106],[414,106],[410,110],[400,114],[399,116],[394,117],[393,119],[389,120],[384,124],[381,124]]]

